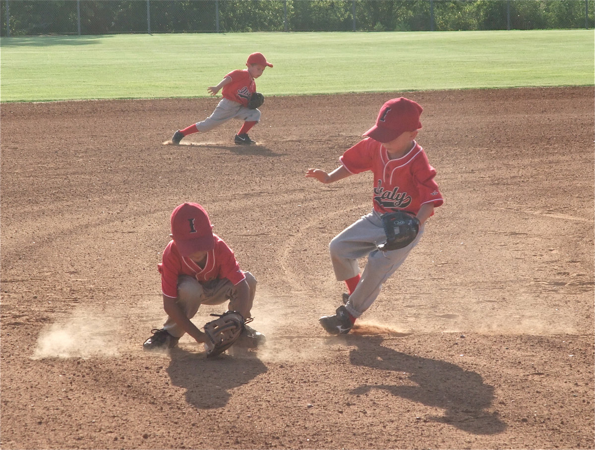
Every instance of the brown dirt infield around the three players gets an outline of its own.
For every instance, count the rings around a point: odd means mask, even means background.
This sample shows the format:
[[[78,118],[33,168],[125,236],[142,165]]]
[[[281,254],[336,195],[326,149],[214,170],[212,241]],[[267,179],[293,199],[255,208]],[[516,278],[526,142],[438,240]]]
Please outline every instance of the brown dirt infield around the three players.
[[[328,336],[328,242],[371,209],[371,178],[304,173],[401,95],[446,202],[360,328]],[[593,100],[268,97],[249,148],[239,122],[164,145],[215,99],[3,104],[1,447],[594,448]],[[143,353],[185,201],[259,281],[256,353]]]

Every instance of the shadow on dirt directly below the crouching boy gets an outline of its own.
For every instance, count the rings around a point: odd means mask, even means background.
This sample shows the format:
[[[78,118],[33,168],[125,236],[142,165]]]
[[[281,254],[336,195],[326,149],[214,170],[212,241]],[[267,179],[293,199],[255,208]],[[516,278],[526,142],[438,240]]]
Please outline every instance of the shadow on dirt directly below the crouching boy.
[[[255,356],[221,355],[206,359],[202,353],[181,348],[170,352],[167,373],[171,383],[186,389],[187,402],[201,410],[224,407],[231,398],[230,389],[267,372],[267,367]]]

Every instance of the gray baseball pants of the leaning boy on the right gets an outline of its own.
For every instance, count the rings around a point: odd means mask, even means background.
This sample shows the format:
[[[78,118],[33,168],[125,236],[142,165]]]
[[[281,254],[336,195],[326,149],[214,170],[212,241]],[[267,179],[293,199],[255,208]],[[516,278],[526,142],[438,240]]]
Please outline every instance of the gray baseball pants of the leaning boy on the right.
[[[358,275],[358,259],[368,256],[368,263],[358,286],[345,305],[349,314],[359,317],[374,303],[384,282],[405,262],[422,234],[424,234],[424,226],[421,226],[417,237],[407,247],[380,251],[377,246],[386,242],[386,234],[384,234],[380,214],[372,211],[331,240],[328,249],[335,276],[339,281]]]

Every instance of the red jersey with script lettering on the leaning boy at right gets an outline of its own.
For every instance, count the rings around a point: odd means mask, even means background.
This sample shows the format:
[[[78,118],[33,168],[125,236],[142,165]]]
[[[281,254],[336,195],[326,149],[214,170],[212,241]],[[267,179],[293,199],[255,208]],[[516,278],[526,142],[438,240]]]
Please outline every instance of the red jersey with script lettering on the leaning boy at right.
[[[383,144],[368,137],[347,149],[340,161],[352,174],[372,171],[372,203],[378,213],[405,210],[417,214],[422,204],[434,203],[438,207],[444,203],[434,181],[436,169],[415,141],[405,156],[389,159]]]

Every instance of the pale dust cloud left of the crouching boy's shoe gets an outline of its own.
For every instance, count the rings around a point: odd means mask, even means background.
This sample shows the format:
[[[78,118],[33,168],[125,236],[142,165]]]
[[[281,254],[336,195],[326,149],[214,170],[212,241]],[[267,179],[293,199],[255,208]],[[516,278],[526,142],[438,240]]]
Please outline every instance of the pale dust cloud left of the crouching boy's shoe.
[[[117,323],[113,319],[89,317],[93,316],[92,311],[86,311],[86,314],[86,317],[71,317],[43,329],[32,359],[117,355]]]

